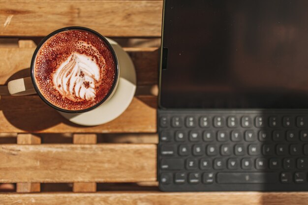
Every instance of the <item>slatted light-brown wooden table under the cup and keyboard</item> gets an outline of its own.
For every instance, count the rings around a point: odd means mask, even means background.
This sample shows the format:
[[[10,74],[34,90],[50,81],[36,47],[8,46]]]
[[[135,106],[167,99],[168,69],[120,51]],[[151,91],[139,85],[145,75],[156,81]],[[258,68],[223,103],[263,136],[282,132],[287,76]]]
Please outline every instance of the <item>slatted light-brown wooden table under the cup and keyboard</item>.
[[[161,13],[161,0],[0,0],[0,205],[308,204],[305,192],[158,191]],[[133,59],[136,96],[112,122],[78,126],[37,95],[5,95],[9,80],[28,75],[33,40],[67,26],[114,38]]]

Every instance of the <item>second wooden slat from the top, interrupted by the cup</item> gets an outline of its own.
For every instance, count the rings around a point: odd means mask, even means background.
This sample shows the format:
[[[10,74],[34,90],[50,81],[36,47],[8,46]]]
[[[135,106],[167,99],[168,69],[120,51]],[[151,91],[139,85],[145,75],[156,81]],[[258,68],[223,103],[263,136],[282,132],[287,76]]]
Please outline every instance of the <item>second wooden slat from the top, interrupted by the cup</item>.
[[[30,46],[25,41],[23,46]],[[28,77],[31,58],[35,48],[0,48],[0,85],[8,80]],[[132,58],[138,85],[157,84],[158,49],[157,48],[124,48]]]

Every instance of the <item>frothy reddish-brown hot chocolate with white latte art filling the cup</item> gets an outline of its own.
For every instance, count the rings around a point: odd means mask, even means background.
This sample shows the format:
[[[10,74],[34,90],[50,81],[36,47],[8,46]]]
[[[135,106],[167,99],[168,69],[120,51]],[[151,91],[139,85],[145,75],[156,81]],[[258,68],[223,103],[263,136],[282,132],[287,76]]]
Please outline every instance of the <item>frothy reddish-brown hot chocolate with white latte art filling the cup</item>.
[[[47,101],[78,111],[107,96],[116,78],[116,62],[100,37],[85,30],[68,30],[41,46],[33,71],[36,86]]]

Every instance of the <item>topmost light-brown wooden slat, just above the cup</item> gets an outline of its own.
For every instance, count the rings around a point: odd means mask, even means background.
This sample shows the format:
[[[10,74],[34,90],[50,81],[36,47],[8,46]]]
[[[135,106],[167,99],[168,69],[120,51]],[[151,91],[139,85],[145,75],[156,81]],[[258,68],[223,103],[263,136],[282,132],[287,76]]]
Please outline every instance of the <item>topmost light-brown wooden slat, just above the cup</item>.
[[[0,35],[45,36],[78,25],[105,36],[160,36],[161,17],[161,0],[1,0]]]

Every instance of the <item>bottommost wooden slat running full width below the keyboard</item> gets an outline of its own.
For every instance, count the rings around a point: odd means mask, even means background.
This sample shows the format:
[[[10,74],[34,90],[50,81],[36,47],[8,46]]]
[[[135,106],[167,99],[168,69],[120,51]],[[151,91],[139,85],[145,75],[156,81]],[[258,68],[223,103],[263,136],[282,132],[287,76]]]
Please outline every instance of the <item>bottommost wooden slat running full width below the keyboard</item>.
[[[307,192],[0,194],[2,205],[306,205]]]

